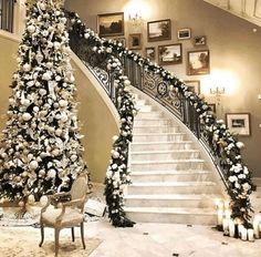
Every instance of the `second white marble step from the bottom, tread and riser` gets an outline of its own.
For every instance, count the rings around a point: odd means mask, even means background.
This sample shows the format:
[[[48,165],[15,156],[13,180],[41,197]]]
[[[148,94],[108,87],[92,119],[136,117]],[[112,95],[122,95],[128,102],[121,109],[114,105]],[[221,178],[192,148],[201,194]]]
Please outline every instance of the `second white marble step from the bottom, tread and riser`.
[[[125,195],[126,207],[190,207],[190,208],[215,208],[215,199],[219,195]]]

